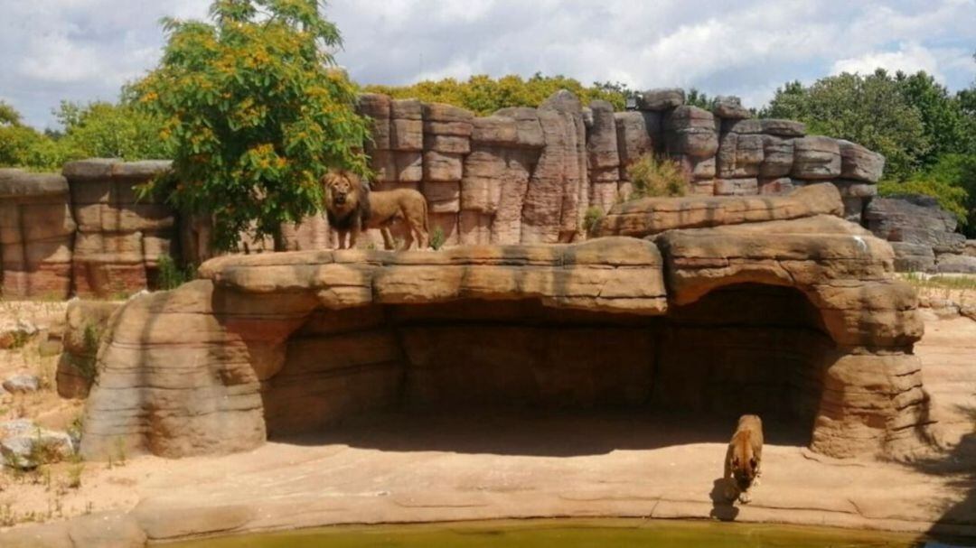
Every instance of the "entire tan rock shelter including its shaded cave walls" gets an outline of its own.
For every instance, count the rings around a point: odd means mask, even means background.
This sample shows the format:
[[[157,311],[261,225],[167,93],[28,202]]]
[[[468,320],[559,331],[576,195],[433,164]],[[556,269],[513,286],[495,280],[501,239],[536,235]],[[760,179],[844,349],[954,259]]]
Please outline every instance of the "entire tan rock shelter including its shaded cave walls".
[[[362,412],[522,406],[760,411],[825,454],[917,450],[915,292],[836,216],[833,185],[798,195],[671,199],[654,240],[212,259],[112,316],[82,450],[246,450]]]

